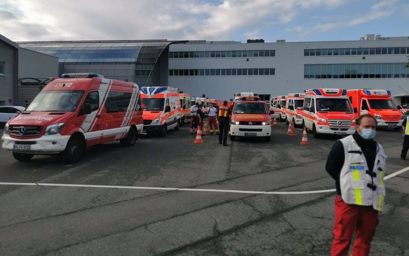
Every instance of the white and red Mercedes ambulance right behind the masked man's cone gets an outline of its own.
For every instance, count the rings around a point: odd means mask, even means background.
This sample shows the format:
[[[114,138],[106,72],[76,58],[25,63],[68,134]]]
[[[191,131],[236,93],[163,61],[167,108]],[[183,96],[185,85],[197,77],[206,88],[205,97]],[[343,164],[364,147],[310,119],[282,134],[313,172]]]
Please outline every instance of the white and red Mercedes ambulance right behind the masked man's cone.
[[[305,91],[303,123],[314,137],[320,134],[355,133],[355,114],[343,89],[310,89]]]

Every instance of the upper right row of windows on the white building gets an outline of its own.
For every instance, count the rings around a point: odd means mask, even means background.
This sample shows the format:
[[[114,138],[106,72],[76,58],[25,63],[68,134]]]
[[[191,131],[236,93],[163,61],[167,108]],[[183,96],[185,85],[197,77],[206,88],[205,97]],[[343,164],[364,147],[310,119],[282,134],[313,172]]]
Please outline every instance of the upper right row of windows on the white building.
[[[304,49],[304,56],[409,54],[409,47]]]

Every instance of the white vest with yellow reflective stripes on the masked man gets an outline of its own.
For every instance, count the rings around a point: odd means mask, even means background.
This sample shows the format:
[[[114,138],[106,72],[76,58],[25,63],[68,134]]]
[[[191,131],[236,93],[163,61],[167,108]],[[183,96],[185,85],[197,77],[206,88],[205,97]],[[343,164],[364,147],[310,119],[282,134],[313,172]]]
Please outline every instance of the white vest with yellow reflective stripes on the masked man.
[[[372,205],[375,210],[381,211],[385,197],[383,177],[387,158],[382,146],[377,143],[374,169],[369,172],[367,160],[352,135],[340,141],[345,153],[339,175],[342,199],[347,204]]]

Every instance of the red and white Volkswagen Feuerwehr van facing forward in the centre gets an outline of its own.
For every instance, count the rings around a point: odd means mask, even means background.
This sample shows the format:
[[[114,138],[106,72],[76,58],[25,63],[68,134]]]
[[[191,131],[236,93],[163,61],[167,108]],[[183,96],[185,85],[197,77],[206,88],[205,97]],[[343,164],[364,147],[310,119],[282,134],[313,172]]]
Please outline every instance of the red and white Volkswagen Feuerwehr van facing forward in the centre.
[[[236,99],[230,123],[230,139],[236,137],[264,137],[271,140],[270,115],[273,114],[264,101],[254,98]]]

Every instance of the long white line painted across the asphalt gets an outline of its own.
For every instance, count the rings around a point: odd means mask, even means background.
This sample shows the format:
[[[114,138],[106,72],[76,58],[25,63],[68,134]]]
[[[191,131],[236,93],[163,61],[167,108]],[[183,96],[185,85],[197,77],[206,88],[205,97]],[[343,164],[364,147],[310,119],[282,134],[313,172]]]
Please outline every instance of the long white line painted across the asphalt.
[[[385,176],[388,180],[409,170],[409,167]],[[265,195],[302,195],[335,192],[335,189],[322,189],[310,191],[251,191],[251,190],[230,190],[230,189],[208,189],[208,188],[178,188],[178,187],[141,187],[141,186],[110,186],[110,185],[86,185],[86,184],[57,184],[57,183],[21,183],[21,182],[0,182],[0,185],[14,186],[55,186],[55,187],[96,187],[96,188],[125,188],[125,189],[146,189],[146,190],[167,190],[167,191],[196,191],[196,192],[218,192],[218,193],[241,193],[241,194],[265,194]]]

